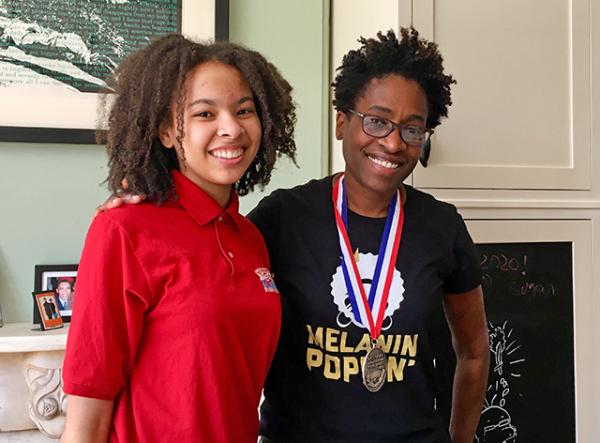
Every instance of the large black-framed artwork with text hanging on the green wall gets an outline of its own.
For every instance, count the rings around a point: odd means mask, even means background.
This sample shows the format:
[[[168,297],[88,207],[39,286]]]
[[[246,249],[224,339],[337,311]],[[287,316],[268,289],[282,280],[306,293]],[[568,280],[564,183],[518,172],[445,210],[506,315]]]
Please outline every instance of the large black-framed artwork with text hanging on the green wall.
[[[0,141],[95,143],[106,77],[171,32],[226,40],[229,0],[0,2]]]

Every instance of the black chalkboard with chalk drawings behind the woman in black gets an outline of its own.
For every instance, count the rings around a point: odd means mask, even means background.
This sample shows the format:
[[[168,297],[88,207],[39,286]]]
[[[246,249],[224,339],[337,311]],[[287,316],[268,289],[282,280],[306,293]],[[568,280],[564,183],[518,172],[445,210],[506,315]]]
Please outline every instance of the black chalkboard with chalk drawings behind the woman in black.
[[[575,442],[572,243],[477,249],[490,373],[475,441]]]

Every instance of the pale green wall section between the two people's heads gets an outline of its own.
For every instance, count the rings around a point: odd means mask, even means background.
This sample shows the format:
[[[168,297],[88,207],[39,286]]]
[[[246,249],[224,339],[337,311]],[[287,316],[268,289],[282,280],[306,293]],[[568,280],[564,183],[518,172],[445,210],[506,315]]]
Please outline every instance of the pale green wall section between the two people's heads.
[[[329,1],[230,0],[230,40],[265,54],[294,87],[298,165],[282,161],[265,190],[329,170]],[[264,193],[242,199],[247,212]]]

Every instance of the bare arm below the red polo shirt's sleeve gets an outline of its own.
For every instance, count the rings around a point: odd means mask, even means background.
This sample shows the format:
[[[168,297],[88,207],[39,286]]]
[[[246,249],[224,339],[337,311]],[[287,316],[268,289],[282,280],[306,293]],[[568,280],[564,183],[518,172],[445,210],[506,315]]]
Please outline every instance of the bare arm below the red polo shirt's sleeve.
[[[69,395],[67,421],[60,443],[106,443],[112,410],[112,400]]]

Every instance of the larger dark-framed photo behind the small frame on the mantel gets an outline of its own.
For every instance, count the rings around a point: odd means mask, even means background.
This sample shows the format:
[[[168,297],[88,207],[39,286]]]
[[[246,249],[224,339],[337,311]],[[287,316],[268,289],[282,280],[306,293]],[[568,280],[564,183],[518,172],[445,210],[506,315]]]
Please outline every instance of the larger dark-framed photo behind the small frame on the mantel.
[[[72,305],[75,299],[75,282],[78,265],[36,265],[34,292],[52,291],[56,297],[62,321],[71,321]],[[41,324],[42,318],[36,303],[33,306],[33,323]]]

